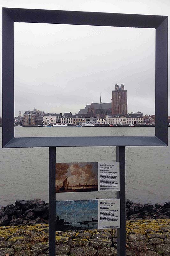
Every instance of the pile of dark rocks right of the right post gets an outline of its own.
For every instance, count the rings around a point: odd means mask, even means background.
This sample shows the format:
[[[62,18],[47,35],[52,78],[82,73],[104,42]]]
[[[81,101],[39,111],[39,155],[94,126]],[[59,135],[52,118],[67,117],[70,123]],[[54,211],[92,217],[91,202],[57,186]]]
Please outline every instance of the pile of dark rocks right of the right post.
[[[170,219],[170,202],[164,205],[155,204],[133,204],[129,199],[126,200],[126,220],[151,220],[151,219]]]

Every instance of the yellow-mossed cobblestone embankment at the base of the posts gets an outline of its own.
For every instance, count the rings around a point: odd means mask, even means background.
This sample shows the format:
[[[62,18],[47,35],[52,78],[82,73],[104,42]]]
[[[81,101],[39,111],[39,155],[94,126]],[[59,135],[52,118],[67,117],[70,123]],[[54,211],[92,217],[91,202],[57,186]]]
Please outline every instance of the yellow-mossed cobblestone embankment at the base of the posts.
[[[56,232],[58,256],[116,256],[116,229]],[[48,225],[0,227],[1,256],[48,256]],[[127,256],[170,256],[170,220],[126,221]]]

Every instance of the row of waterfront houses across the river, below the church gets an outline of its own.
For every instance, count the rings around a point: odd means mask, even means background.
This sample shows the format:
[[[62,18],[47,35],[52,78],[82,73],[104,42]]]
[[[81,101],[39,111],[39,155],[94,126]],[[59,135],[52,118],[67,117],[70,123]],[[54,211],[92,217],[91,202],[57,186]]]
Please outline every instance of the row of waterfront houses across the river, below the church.
[[[36,111],[25,111],[23,117],[21,111],[19,116],[15,117],[14,124],[20,124],[24,126],[29,125],[49,125],[56,123],[65,123],[70,125],[89,123],[89,124],[119,124],[119,125],[129,125],[129,124],[146,124],[155,125],[155,115],[145,115],[141,112],[128,113],[127,115],[110,115],[107,114],[106,119],[89,117],[86,114],[75,114],[71,112],[62,113],[43,113],[43,115],[37,114]],[[170,123],[170,116],[168,117],[168,124]]]

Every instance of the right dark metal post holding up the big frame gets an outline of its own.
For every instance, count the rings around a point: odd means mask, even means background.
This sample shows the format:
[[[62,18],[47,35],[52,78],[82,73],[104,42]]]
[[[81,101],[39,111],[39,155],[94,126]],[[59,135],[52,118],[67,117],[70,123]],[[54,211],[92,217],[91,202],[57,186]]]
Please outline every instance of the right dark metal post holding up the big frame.
[[[126,191],[125,191],[125,146],[116,147],[116,161],[120,163],[120,228],[117,229],[117,256],[126,255]]]

